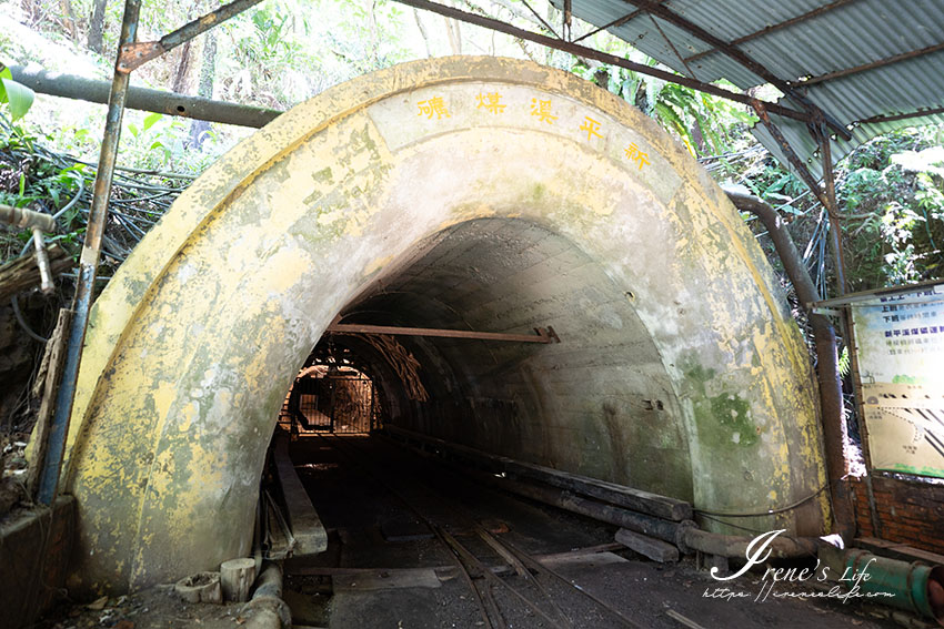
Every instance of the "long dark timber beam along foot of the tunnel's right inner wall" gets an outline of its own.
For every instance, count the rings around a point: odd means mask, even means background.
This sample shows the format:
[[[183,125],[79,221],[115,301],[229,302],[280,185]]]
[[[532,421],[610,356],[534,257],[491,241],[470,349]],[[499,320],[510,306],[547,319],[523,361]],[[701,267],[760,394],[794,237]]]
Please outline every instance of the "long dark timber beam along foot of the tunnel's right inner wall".
[[[656,516],[666,520],[682,521],[692,519],[692,505],[684,500],[531,463],[523,463],[508,457],[491,455],[482,450],[459,444],[451,444],[443,439],[414,433],[413,430],[398,426],[388,425],[384,429],[391,435],[431,444],[443,450],[455,453],[461,457],[473,459],[476,463],[484,463],[494,471],[504,471],[533,478],[560,489],[566,489],[574,494],[604,500],[633,511]]]

